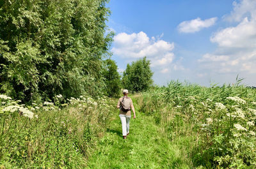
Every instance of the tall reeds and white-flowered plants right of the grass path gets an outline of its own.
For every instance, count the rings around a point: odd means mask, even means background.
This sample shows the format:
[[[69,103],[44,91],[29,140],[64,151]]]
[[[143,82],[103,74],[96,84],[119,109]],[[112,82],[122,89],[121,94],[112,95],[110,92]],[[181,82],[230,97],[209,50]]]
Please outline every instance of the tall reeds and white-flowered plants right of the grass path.
[[[163,125],[198,168],[256,167],[256,90],[170,82],[143,93],[143,112]]]

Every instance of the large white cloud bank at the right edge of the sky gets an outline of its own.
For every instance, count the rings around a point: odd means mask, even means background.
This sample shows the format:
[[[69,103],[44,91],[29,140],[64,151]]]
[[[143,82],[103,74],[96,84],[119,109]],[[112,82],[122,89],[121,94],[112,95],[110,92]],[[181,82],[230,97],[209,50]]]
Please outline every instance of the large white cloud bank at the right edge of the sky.
[[[234,10],[225,20],[237,22],[211,36],[211,42],[218,44],[213,54],[205,54],[198,59],[205,71],[255,77],[256,73],[256,1],[234,2]],[[255,77],[256,78],[256,77]]]

